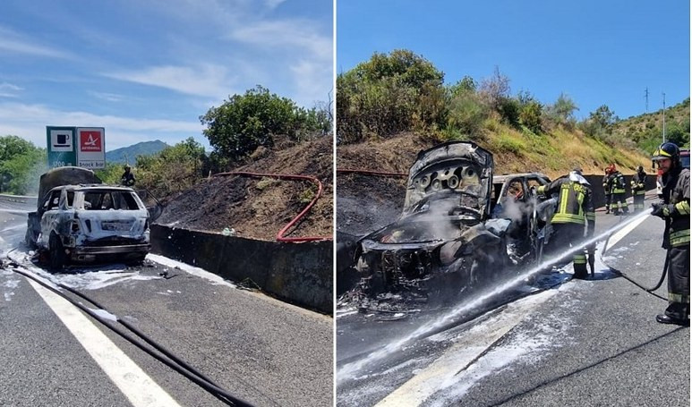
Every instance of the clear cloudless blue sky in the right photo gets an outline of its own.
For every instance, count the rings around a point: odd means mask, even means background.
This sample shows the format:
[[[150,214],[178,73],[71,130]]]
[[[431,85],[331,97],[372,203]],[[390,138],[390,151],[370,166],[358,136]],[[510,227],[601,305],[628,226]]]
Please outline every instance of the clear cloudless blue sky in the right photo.
[[[551,104],[565,93],[578,118],[609,106],[620,118],[689,97],[689,2],[674,0],[337,2],[337,72],[373,52],[406,48],[454,83],[508,76],[511,93]]]

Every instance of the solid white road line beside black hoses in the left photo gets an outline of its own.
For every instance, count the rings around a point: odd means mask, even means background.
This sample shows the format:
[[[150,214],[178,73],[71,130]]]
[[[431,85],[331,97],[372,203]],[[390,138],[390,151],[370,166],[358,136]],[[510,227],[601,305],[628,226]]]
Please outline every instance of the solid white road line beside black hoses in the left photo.
[[[179,407],[173,397],[111,342],[79,309],[56,293],[28,279],[64,326],[96,360],[121,392],[135,407]]]

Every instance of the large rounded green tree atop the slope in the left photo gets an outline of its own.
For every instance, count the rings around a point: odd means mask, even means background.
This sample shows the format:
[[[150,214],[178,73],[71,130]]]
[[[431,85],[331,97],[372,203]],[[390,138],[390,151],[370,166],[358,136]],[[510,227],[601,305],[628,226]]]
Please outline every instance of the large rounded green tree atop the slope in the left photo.
[[[274,135],[291,138],[304,131],[318,131],[327,126],[326,116],[318,109],[304,110],[289,98],[280,98],[257,85],[244,95],[234,95],[221,106],[211,107],[200,121],[203,133],[219,155],[236,161],[256,148],[274,145]]]

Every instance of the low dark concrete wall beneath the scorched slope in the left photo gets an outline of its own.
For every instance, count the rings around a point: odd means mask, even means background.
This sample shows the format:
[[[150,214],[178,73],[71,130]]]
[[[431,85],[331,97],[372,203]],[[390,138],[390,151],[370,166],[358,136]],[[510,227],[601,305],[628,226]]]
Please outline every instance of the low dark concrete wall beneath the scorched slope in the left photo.
[[[296,305],[333,313],[332,242],[263,242],[151,225],[151,251]]]

